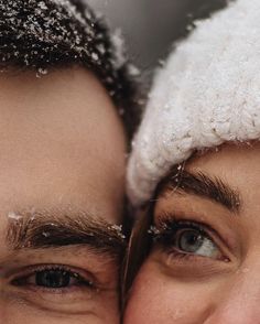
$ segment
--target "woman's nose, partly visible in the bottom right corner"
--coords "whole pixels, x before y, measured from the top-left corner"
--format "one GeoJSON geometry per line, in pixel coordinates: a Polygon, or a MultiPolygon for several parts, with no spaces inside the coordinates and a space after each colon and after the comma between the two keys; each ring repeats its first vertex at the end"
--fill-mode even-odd
{"type": "Polygon", "coordinates": [[[205,324],[260,324],[260,268],[243,268],[219,293],[205,324]]]}

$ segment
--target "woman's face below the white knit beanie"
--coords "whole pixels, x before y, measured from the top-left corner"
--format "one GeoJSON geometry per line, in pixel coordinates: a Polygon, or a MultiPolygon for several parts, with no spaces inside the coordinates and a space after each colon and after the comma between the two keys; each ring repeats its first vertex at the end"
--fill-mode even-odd
{"type": "Polygon", "coordinates": [[[165,182],[126,324],[259,323],[259,143],[230,144],[165,182]]]}

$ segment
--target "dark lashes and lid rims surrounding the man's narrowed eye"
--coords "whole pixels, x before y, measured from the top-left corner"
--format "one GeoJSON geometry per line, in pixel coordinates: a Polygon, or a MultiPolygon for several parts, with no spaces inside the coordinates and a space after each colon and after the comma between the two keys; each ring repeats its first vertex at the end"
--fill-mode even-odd
{"type": "MultiPolygon", "coordinates": [[[[75,289],[88,289],[88,290],[95,290],[97,289],[95,281],[90,279],[86,279],[86,274],[82,274],[82,271],[78,269],[73,269],[68,266],[63,264],[40,264],[35,267],[30,267],[30,269],[26,269],[22,274],[18,276],[17,278],[11,280],[11,284],[15,287],[31,287],[33,290],[41,290],[45,292],[71,292],[75,289]],[[36,276],[44,273],[44,272],[62,272],[63,274],[69,276],[71,280],[76,280],[76,284],[68,284],[68,287],[62,287],[62,288],[47,288],[44,285],[36,284],[36,276]],[[30,283],[30,279],[35,277],[35,284],[30,283]]],[[[90,277],[90,276],[89,276],[90,277]]]]}

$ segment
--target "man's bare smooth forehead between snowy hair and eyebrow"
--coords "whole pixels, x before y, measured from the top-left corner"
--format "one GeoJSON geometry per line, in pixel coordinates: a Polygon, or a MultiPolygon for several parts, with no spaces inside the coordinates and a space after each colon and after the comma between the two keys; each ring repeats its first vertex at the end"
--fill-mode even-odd
{"type": "Polygon", "coordinates": [[[0,213],[76,205],[117,222],[124,134],[99,82],[72,68],[0,86],[0,213]]]}

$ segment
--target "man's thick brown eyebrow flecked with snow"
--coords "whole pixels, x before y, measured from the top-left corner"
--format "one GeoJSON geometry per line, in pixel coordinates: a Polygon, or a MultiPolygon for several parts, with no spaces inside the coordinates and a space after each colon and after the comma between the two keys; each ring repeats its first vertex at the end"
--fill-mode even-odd
{"type": "Polygon", "coordinates": [[[6,239],[13,250],[86,245],[112,258],[121,258],[124,252],[120,227],[85,212],[12,212],[9,219],[6,239]]]}

